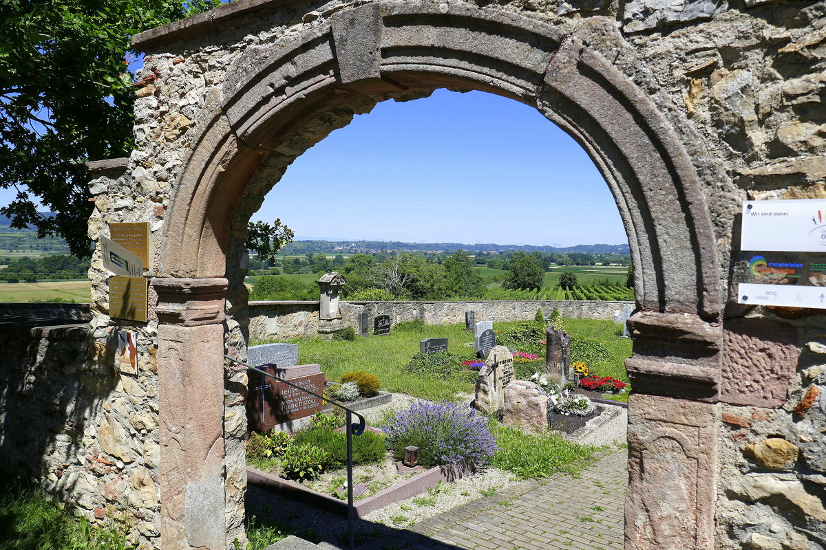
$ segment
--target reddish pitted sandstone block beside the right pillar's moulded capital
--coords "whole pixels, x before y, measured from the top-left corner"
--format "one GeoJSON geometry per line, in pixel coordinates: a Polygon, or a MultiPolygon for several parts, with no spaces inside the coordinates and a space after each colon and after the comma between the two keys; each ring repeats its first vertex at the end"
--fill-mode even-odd
{"type": "Polygon", "coordinates": [[[779,407],[797,369],[797,329],[759,319],[724,324],[719,399],[737,405],[779,407]]]}

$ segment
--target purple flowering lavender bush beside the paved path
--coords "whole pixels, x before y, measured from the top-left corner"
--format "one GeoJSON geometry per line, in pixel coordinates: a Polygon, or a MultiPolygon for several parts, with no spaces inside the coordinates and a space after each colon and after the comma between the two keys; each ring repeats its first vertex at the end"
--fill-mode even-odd
{"type": "Polygon", "coordinates": [[[415,402],[397,412],[382,430],[396,460],[404,458],[405,447],[415,445],[419,448],[419,463],[425,468],[480,468],[496,452],[487,418],[448,401],[415,402]]]}

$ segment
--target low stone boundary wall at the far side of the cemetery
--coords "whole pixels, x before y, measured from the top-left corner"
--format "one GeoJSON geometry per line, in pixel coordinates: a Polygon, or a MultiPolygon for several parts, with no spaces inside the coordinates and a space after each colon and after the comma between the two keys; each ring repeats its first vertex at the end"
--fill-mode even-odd
{"type": "MultiPolygon", "coordinates": [[[[633,302],[585,300],[486,300],[467,302],[342,302],[344,322],[358,328],[358,314],[389,315],[392,324],[419,319],[426,325],[464,322],[466,311],[476,312],[477,321],[528,321],[542,308],[545,317],[559,310],[563,317],[612,319],[615,311],[633,302]]],[[[250,302],[251,341],[288,340],[318,334],[318,302],[250,302]]],[[[371,327],[373,330],[373,327],[371,327]]]]}

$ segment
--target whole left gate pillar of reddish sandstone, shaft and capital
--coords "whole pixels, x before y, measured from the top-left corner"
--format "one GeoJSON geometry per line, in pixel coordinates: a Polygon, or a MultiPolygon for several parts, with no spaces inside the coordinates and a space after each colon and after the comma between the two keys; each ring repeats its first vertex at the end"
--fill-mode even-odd
{"type": "Polygon", "coordinates": [[[225,550],[225,279],[154,279],[161,548],[225,550]]]}

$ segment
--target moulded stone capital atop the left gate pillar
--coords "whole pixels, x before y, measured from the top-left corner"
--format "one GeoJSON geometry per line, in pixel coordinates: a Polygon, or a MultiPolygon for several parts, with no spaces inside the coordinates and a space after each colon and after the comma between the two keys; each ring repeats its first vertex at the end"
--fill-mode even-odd
{"type": "Polygon", "coordinates": [[[153,279],[152,288],[158,294],[158,321],[184,327],[224,322],[228,284],[224,278],[153,279]]]}

